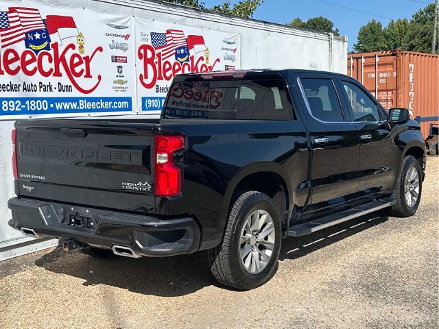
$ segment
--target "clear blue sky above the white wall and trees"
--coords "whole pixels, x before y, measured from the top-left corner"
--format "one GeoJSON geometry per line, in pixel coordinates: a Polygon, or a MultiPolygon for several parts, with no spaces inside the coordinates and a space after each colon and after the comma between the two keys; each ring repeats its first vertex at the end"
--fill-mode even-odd
{"type": "MultiPolygon", "coordinates": [[[[204,0],[207,7],[213,7],[224,0],[204,0]]],[[[237,3],[232,0],[230,3],[237,3]]],[[[348,36],[348,49],[351,51],[357,42],[357,33],[361,26],[372,19],[381,21],[383,26],[390,19],[410,19],[429,0],[265,0],[254,12],[254,19],[285,24],[299,17],[303,21],[316,16],[325,16],[339,29],[340,35],[348,36]],[[368,12],[369,14],[348,10],[340,6],[368,12]]]]}

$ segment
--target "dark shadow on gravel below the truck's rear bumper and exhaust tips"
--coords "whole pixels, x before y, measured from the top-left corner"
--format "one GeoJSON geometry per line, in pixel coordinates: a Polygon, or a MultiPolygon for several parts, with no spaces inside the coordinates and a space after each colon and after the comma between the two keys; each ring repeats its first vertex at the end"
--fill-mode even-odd
{"type": "Polygon", "coordinates": [[[65,253],[58,247],[35,265],[85,280],[84,286],[106,284],[145,295],[174,297],[217,285],[205,259],[202,252],[169,258],[93,258],[80,251],[65,253]]]}

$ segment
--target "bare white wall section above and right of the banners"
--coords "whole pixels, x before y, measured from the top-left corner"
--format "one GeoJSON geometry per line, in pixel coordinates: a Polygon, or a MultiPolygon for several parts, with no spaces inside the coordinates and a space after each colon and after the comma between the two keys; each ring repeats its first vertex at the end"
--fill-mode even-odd
{"type": "MultiPolygon", "coordinates": [[[[75,0],[71,3],[83,2],[75,0]]],[[[285,25],[164,5],[161,1],[108,0],[108,3],[127,6],[123,7],[124,14],[129,12],[148,19],[239,33],[242,69],[313,69],[346,73],[348,49],[344,36],[331,37],[285,25]]],[[[101,1],[93,1],[90,5],[97,10],[114,8],[114,5],[110,7],[101,1]]]]}

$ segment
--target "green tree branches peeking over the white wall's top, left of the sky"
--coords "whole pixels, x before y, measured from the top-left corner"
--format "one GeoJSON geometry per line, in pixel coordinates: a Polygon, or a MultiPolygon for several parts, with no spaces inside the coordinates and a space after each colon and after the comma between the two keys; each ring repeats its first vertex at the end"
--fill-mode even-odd
{"type": "Polygon", "coordinates": [[[215,5],[213,8],[206,8],[203,1],[199,0],[167,0],[171,3],[178,3],[179,5],[189,5],[193,8],[213,10],[214,12],[222,12],[234,16],[244,17],[248,19],[253,16],[254,11],[263,3],[264,0],[241,0],[235,5],[230,5],[230,0],[226,0],[220,5],[215,5]]]}

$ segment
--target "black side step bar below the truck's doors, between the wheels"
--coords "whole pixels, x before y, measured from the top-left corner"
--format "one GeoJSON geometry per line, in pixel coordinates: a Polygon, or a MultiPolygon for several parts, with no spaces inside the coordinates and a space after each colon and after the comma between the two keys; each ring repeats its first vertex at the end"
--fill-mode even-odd
{"type": "Polygon", "coordinates": [[[306,223],[296,224],[289,227],[288,236],[304,236],[311,234],[318,230],[329,228],[329,226],[334,226],[339,223],[343,223],[344,221],[349,221],[351,219],[370,214],[370,212],[375,212],[377,210],[390,207],[394,205],[394,203],[394,199],[382,199],[381,201],[370,202],[369,204],[364,204],[337,214],[329,215],[327,217],[314,219],[312,221],[307,221],[306,223]]]}

